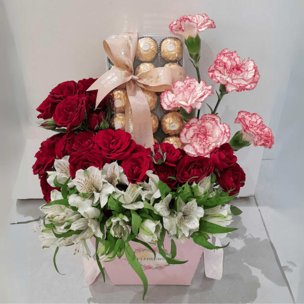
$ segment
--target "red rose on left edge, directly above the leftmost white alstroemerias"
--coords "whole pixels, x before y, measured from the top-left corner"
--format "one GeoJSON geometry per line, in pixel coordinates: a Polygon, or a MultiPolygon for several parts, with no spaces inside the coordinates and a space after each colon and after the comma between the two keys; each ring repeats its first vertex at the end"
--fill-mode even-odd
{"type": "Polygon", "coordinates": [[[56,134],[41,143],[39,151],[35,154],[37,160],[32,166],[34,174],[45,174],[46,171],[52,170],[56,158],[55,144],[62,136],[62,133],[56,134]]]}

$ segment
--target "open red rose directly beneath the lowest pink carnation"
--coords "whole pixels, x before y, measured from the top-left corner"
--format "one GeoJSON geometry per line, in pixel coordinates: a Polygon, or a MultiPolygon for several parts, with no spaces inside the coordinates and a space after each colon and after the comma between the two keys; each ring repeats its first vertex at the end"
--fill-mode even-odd
{"type": "Polygon", "coordinates": [[[205,176],[209,176],[213,170],[214,167],[209,158],[185,156],[176,167],[176,178],[180,182],[199,182],[205,176]]]}

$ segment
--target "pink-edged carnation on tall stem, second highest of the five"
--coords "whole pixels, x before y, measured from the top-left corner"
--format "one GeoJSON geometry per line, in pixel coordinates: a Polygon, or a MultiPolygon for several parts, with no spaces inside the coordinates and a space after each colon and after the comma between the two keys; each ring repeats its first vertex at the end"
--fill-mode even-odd
{"type": "Polygon", "coordinates": [[[248,58],[241,61],[236,51],[230,52],[228,49],[216,55],[208,75],[214,82],[224,85],[229,93],[254,89],[260,76],[253,60],[248,58]]]}

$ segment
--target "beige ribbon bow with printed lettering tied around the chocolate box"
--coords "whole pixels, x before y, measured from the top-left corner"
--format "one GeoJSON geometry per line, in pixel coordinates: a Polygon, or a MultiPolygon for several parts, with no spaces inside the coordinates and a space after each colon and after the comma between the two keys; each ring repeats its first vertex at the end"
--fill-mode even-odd
{"type": "Polygon", "coordinates": [[[136,143],[144,147],[154,144],[148,102],[141,89],[162,92],[172,89],[172,83],[184,79],[182,67],[157,67],[134,75],[133,61],[137,45],[137,32],[123,33],[103,41],[103,48],[115,65],[99,77],[87,91],[98,90],[96,106],[113,89],[127,83],[128,100],[125,112],[125,130],[136,143]]]}

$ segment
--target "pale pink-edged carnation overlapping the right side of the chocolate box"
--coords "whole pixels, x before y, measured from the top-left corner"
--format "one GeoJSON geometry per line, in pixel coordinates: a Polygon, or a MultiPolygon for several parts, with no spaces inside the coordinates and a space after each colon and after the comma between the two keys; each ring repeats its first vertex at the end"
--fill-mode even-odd
{"type": "Polygon", "coordinates": [[[184,81],[176,81],[172,88],[173,92],[165,90],[161,94],[161,105],[167,111],[182,106],[187,113],[190,113],[193,108],[200,109],[202,102],[214,94],[211,90],[212,86],[207,86],[203,80],[199,83],[189,75],[184,81]]]}

